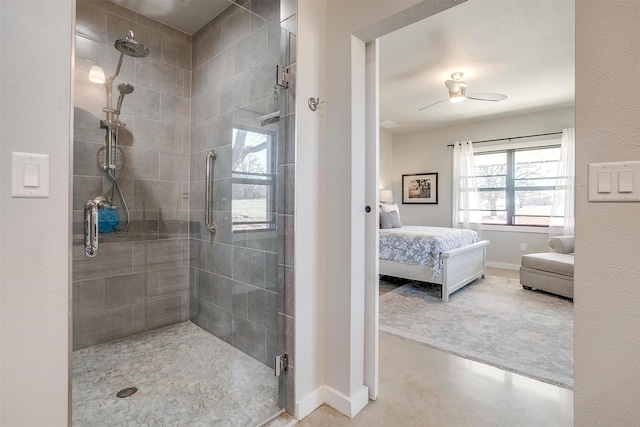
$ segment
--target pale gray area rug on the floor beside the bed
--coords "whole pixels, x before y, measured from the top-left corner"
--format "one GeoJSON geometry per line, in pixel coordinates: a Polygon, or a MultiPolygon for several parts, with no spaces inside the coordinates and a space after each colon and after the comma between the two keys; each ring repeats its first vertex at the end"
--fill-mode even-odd
{"type": "MultiPolygon", "coordinates": [[[[389,286],[381,280],[381,286],[389,286]]],[[[573,303],[487,276],[440,300],[440,286],[406,283],[380,297],[380,330],[458,356],[573,388],[573,303]]]]}

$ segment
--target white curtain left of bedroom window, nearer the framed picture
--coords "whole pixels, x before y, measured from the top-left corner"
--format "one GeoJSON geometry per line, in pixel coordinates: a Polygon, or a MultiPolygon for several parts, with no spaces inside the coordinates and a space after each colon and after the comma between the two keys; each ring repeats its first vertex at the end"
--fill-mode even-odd
{"type": "Polygon", "coordinates": [[[454,228],[479,229],[478,185],[473,162],[471,141],[456,142],[453,146],[453,218],[454,228]]]}

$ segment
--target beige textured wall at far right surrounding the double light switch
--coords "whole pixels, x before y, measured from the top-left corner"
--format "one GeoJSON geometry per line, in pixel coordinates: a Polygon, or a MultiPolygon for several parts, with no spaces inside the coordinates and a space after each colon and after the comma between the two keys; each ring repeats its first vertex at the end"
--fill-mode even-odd
{"type": "Polygon", "coordinates": [[[640,203],[589,203],[587,165],[640,160],[640,2],[576,2],[577,426],[640,422],[640,203]],[[624,79],[623,79],[624,80],[624,79]]]}

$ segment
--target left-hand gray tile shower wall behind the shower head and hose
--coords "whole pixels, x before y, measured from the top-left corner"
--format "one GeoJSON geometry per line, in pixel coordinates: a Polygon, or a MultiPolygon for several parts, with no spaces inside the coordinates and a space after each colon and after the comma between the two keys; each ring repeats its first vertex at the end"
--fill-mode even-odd
{"type": "MultiPolygon", "coordinates": [[[[79,349],[189,318],[188,191],[190,35],[103,0],[78,0],[73,159],[73,337],[79,349]],[[118,178],[131,212],[126,232],[102,234],[98,256],[83,249],[86,201],[111,195],[104,177],[103,85],[115,73],[116,39],[133,30],[147,58],[124,57],[114,83],[135,86],[122,106],[118,178]]],[[[120,206],[121,225],[125,215],[120,206]]]]}

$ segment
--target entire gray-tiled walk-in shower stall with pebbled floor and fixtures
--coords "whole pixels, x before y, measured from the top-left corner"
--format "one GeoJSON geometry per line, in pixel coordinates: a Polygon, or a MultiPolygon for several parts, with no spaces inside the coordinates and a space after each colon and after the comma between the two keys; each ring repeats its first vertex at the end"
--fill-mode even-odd
{"type": "Polygon", "coordinates": [[[293,412],[291,4],[187,34],[77,0],[74,425],[293,412]]]}

